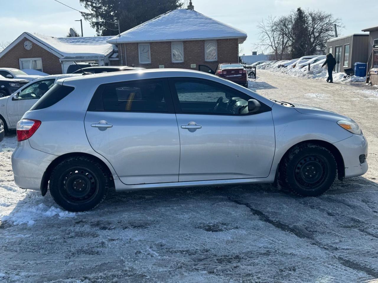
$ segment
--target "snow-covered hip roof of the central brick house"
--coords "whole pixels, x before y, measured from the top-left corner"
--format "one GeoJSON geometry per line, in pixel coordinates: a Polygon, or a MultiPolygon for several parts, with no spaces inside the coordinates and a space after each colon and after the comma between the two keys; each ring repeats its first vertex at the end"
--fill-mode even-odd
{"type": "Polygon", "coordinates": [[[239,38],[239,43],[243,43],[247,34],[192,9],[176,9],[122,32],[120,36],[108,40],[108,43],[222,38],[239,38]]]}

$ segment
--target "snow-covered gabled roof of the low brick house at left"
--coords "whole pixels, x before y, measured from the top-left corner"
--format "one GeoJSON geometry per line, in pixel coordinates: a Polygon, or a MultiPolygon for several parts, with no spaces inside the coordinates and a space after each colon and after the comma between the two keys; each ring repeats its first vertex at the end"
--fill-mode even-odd
{"type": "Polygon", "coordinates": [[[24,37],[50,51],[60,59],[103,57],[115,50],[115,46],[107,43],[112,36],[93,37],[53,37],[23,32],[14,42],[0,52],[0,57],[19,43],[24,37]]]}

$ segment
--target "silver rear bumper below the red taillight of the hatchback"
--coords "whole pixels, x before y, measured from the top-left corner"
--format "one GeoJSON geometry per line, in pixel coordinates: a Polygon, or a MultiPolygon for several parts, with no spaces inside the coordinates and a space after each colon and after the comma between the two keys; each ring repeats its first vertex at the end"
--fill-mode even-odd
{"type": "Polygon", "coordinates": [[[15,184],[23,189],[40,190],[42,176],[56,157],[32,148],[28,140],[20,141],[12,154],[15,184]]]}

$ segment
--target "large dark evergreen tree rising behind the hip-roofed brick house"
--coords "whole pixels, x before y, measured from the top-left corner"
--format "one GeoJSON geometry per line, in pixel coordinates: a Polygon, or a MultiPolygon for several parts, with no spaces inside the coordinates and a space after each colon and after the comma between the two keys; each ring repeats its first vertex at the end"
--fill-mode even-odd
{"type": "Polygon", "coordinates": [[[117,35],[167,11],[181,7],[180,0],[79,0],[91,12],[82,12],[101,35],[117,35]]]}

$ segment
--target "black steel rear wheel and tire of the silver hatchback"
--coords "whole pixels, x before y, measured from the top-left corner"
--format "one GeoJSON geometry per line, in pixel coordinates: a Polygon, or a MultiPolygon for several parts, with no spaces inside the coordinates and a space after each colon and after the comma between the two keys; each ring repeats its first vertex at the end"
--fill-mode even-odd
{"type": "Polygon", "coordinates": [[[68,211],[87,211],[108,193],[109,177],[103,166],[88,157],[70,157],[51,172],[50,193],[68,211]]]}

